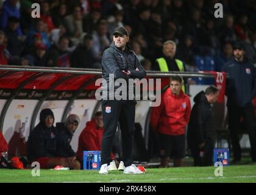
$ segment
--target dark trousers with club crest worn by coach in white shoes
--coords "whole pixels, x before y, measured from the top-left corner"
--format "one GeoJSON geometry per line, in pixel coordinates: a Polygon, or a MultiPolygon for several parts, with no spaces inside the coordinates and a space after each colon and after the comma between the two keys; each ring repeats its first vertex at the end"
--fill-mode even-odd
{"type": "Polygon", "coordinates": [[[101,165],[109,165],[113,139],[118,122],[122,134],[122,150],[124,166],[132,164],[132,139],[134,133],[136,101],[106,100],[101,102],[104,133],[101,142],[101,165]]]}

